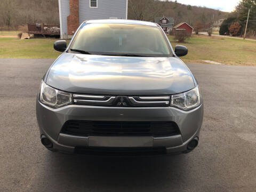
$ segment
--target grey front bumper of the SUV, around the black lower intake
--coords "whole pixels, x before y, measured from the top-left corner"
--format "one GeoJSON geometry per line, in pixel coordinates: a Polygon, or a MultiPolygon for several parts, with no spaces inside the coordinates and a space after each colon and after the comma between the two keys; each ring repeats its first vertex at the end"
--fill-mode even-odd
{"type": "MultiPolygon", "coordinates": [[[[45,135],[53,143],[52,150],[63,153],[74,153],[76,147],[91,147],[89,137],[78,137],[63,134],[61,129],[68,120],[85,121],[173,121],[180,130],[180,134],[171,137],[148,137],[153,142],[141,142],[140,137],[113,137],[113,142],[105,139],[106,146],[102,142],[97,144],[97,138],[93,147],[165,147],[167,153],[185,153],[187,144],[195,137],[199,138],[199,131],[203,122],[203,104],[193,110],[183,111],[174,107],[99,107],[69,105],[58,109],[52,109],[37,100],[37,121],[41,135],[45,135]],[[107,141],[106,141],[107,140],[107,141]],[[137,142],[139,141],[139,142],[137,142]],[[129,146],[126,146],[129,143],[129,146]]],[[[147,139],[147,137],[143,137],[147,139]]]]}

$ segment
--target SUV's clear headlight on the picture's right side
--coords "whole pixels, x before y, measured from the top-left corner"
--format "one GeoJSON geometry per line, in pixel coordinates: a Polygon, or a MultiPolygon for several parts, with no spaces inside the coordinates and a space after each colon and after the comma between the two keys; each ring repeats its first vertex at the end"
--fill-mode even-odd
{"type": "Polygon", "coordinates": [[[171,106],[182,110],[190,110],[201,104],[201,98],[198,86],[185,93],[172,95],[171,106]]]}

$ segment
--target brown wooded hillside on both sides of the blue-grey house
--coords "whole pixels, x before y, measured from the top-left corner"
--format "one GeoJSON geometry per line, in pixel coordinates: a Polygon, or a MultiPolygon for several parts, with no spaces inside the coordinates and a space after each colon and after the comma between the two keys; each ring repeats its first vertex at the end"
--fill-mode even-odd
{"type": "MultiPolygon", "coordinates": [[[[226,18],[228,13],[206,7],[154,0],[129,0],[128,18],[154,21],[154,17],[173,17],[174,24],[196,21],[203,24],[226,18]]],[[[59,23],[58,0],[1,0],[0,27],[11,29],[27,23],[59,23]]]]}

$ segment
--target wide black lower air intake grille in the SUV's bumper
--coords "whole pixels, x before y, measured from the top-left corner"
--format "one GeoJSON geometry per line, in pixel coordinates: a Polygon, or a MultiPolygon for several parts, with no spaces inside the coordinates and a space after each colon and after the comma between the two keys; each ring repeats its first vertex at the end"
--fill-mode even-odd
{"type": "Polygon", "coordinates": [[[67,121],[62,133],[79,136],[168,137],[180,134],[174,122],[67,121]]]}

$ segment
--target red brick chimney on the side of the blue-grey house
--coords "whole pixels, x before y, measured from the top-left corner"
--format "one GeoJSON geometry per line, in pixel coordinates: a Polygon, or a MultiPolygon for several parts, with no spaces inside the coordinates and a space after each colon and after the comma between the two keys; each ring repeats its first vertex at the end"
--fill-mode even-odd
{"type": "Polygon", "coordinates": [[[69,0],[68,35],[74,35],[79,27],[79,0],[69,0]]]}

